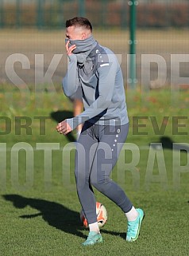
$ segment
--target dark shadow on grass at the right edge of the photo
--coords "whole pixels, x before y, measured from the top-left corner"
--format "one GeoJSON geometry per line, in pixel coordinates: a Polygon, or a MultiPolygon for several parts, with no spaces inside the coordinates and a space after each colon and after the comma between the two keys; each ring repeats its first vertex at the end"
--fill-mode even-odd
{"type": "MultiPolygon", "coordinates": [[[[189,152],[189,147],[187,145],[184,144],[179,144],[179,143],[175,143],[170,137],[168,136],[162,136],[160,137],[160,141],[158,143],[162,144],[162,148],[163,149],[170,149],[170,150],[179,150],[180,152],[189,152]],[[173,148],[173,144],[174,144],[174,148],[173,148]]],[[[156,144],[151,144],[152,148],[156,149],[156,144]]]]}

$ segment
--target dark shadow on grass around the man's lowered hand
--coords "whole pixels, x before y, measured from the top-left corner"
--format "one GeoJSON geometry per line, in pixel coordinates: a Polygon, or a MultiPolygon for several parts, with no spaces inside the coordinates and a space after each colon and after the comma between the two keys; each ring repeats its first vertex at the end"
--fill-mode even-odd
{"type": "MultiPolygon", "coordinates": [[[[52,120],[55,120],[57,124],[60,123],[61,121],[65,120],[65,119],[67,119],[67,118],[73,117],[73,115],[74,114],[71,111],[60,111],[60,110],[50,113],[50,116],[51,116],[52,120]]],[[[70,142],[75,141],[75,137],[73,136],[72,132],[69,132],[66,135],[66,137],[70,142]]]]}

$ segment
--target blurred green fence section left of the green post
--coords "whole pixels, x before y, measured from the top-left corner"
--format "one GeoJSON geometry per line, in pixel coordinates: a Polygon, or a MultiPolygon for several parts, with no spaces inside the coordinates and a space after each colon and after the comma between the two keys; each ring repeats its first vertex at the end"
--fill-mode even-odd
{"type": "Polygon", "coordinates": [[[0,27],[61,28],[68,18],[87,16],[95,26],[127,26],[127,2],[107,0],[0,0],[0,27]]]}

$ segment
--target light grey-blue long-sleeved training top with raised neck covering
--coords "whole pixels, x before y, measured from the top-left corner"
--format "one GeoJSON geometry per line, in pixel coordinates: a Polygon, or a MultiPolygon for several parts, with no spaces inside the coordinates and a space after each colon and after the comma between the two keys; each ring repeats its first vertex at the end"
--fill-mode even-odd
{"type": "Polygon", "coordinates": [[[77,48],[68,56],[63,89],[70,97],[81,86],[84,111],[67,119],[68,124],[72,129],[85,121],[101,125],[127,124],[122,70],[115,54],[99,45],[92,36],[83,41],[69,41],[77,48]]]}

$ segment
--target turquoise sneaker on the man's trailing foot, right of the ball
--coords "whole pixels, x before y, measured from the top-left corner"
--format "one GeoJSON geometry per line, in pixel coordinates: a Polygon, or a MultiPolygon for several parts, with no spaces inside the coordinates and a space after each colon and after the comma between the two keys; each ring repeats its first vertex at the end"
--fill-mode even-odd
{"type": "Polygon", "coordinates": [[[125,240],[128,242],[134,242],[137,240],[140,230],[141,230],[141,222],[145,217],[144,211],[141,209],[136,209],[138,212],[138,217],[134,221],[129,221],[128,222],[128,229],[126,233],[126,238],[125,240]]]}

